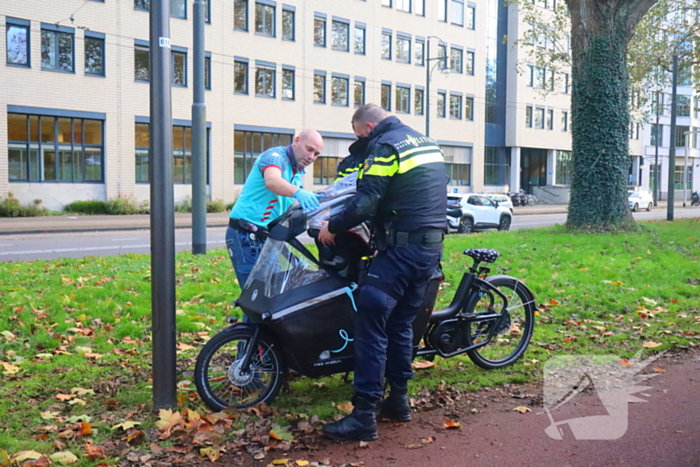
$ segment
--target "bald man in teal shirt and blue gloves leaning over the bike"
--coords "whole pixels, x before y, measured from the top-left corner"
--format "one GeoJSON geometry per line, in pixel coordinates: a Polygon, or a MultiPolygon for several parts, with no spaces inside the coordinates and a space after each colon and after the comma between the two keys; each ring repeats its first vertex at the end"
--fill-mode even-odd
{"type": "Polygon", "coordinates": [[[319,206],[317,195],[301,185],[304,169],[322,150],[321,135],[315,130],[304,130],[289,146],[270,148],[255,160],[226,230],[226,247],[241,288],[260,256],[270,221],[295,200],[304,210],[319,206]]]}

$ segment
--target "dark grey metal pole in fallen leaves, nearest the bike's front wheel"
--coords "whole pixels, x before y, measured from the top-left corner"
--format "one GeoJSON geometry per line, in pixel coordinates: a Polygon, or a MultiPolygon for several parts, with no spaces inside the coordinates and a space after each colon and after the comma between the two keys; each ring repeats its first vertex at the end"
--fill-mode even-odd
{"type": "Polygon", "coordinates": [[[158,410],[177,406],[170,0],[151,2],[150,27],[152,370],[158,410]]]}

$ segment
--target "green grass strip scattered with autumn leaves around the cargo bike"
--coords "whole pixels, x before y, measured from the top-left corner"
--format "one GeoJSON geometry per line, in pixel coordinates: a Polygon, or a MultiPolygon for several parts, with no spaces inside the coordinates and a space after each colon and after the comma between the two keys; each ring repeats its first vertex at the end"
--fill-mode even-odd
{"type": "MultiPolygon", "coordinates": [[[[554,355],[629,357],[645,342],[661,344],[647,352],[697,345],[698,232],[697,220],[677,220],[645,223],[637,233],[575,235],[555,226],[448,237],[438,306],[449,302],[467,267],[461,251],[496,248],[502,256],[492,274],[523,279],[536,295],[535,334],[524,358],[502,370],[481,370],[466,357],[438,358],[438,365],[417,371],[412,394],[420,399],[443,384],[476,390],[541,378],[542,365],[554,355]]],[[[0,264],[0,362],[18,369],[2,374],[0,366],[0,449],[54,452],[57,433],[41,436],[38,427],[62,423],[43,419],[45,411],[64,421],[92,417],[95,445],[118,438],[111,427],[129,413],[142,429],[153,426],[150,277],[146,255],[0,264]],[[84,405],[56,398],[73,388],[95,394],[79,396],[84,405]]],[[[178,254],[178,339],[194,346],[178,352],[180,380],[192,380],[198,349],[227,316],[239,314],[230,305],[239,293],[234,278],[224,250],[178,254]]],[[[275,406],[322,419],[337,414],[333,403],[352,392],[341,375],[297,378],[290,387],[275,406]]],[[[182,401],[205,412],[192,392],[182,392],[182,401]]],[[[62,441],[76,454],[84,450],[81,439],[62,441]]]]}

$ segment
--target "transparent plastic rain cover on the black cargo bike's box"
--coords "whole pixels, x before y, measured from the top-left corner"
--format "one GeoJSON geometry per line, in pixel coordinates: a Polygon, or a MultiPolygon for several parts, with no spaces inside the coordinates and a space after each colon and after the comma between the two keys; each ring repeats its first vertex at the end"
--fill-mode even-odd
{"type": "MultiPolygon", "coordinates": [[[[319,200],[321,205],[307,213],[307,228],[320,228],[321,222],[342,209],[345,202],[355,193],[357,173],[352,173],[326,188],[319,200]]],[[[289,220],[281,223],[289,227],[289,220]]],[[[302,234],[303,235],[303,234],[302,234]]],[[[262,248],[260,257],[245,283],[250,286],[253,281],[265,284],[264,294],[275,297],[304,285],[318,282],[328,277],[328,273],[306,258],[301,252],[281,240],[268,238],[262,248]]]]}

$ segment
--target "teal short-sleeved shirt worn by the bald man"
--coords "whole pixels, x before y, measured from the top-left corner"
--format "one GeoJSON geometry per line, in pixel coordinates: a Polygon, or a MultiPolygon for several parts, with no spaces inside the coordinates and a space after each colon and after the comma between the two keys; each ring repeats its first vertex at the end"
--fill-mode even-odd
{"type": "Polygon", "coordinates": [[[304,171],[296,167],[291,146],[277,146],[260,154],[248,174],[241,195],[231,209],[232,219],[244,219],[267,228],[271,220],[282,215],[296,201],[288,196],[277,195],[265,187],[263,173],[268,167],[277,167],[282,178],[294,186],[301,187],[304,171]]]}

